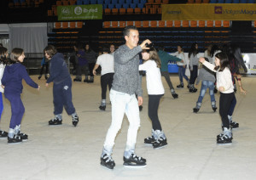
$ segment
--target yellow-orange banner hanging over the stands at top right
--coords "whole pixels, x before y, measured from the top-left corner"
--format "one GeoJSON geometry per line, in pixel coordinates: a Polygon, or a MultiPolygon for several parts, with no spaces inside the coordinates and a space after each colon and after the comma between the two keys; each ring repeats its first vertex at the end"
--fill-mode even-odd
{"type": "Polygon", "coordinates": [[[162,20],[256,20],[256,4],[162,4],[162,20]]]}

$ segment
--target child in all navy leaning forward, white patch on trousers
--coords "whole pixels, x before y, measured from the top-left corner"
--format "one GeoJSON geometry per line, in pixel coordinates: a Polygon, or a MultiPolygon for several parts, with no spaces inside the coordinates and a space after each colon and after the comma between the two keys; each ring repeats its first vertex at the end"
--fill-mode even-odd
{"type": "Polygon", "coordinates": [[[64,61],[62,53],[58,53],[54,46],[44,48],[44,55],[49,59],[49,78],[45,84],[49,86],[49,82],[53,82],[53,98],[54,98],[54,115],[55,118],[49,121],[49,125],[62,124],[63,107],[67,111],[67,115],[72,115],[73,126],[76,127],[79,123],[79,116],[73,107],[72,102],[72,80],[67,69],[67,64],[64,61]]]}

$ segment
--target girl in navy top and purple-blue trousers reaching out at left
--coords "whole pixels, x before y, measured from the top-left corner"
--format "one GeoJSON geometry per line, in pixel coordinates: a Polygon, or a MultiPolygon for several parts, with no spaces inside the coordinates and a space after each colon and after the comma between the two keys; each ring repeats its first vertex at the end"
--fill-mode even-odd
{"type": "Polygon", "coordinates": [[[26,72],[26,67],[21,65],[25,58],[23,49],[14,48],[10,54],[9,65],[6,65],[3,72],[2,86],[4,96],[11,105],[11,120],[9,123],[8,143],[20,143],[26,141],[28,136],[20,130],[20,123],[25,112],[24,105],[20,98],[22,93],[22,79],[34,88],[39,90],[37,83],[33,82],[26,72]]]}

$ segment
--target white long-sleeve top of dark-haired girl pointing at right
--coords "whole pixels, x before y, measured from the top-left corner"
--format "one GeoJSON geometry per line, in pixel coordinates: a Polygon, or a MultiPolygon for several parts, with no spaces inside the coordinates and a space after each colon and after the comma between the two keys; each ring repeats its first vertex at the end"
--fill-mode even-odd
{"type": "Polygon", "coordinates": [[[232,82],[232,75],[229,68],[225,68],[223,71],[214,70],[215,65],[212,65],[211,63],[205,61],[203,63],[209,70],[212,70],[216,72],[216,86],[218,87],[224,87],[224,92],[221,93],[233,93],[234,92],[234,86],[232,82]]]}

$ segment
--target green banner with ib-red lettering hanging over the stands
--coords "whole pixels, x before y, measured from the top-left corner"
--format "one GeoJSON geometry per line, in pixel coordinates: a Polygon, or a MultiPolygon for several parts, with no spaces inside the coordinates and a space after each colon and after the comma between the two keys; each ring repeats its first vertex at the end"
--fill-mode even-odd
{"type": "Polygon", "coordinates": [[[58,6],[58,20],[102,20],[102,4],[58,6]]]}

